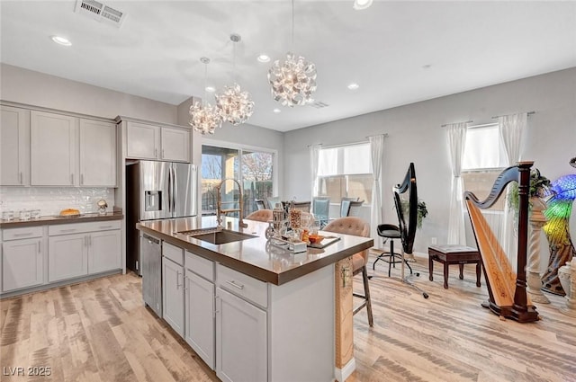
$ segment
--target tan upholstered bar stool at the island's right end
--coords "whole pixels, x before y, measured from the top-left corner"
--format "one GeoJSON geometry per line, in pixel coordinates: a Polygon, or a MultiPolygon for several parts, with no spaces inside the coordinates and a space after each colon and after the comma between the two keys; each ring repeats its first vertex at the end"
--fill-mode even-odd
{"type": "MultiPolygon", "coordinates": [[[[328,226],[324,227],[324,231],[334,232],[337,234],[355,235],[355,236],[370,236],[370,225],[361,218],[347,217],[338,218],[331,221],[328,226]]],[[[360,306],[354,309],[354,314],[358,313],[364,307],[368,311],[368,324],[374,326],[374,319],[372,316],[372,302],[370,300],[370,287],[368,285],[368,272],[366,271],[366,264],[368,263],[368,250],[355,253],[352,256],[352,275],[362,272],[362,280],[364,281],[364,295],[354,293],[356,298],[364,299],[360,306]]]]}

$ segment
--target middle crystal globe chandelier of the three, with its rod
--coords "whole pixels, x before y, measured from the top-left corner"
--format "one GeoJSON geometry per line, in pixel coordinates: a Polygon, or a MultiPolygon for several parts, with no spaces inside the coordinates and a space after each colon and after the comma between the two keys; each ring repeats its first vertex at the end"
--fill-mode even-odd
{"type": "Polygon", "coordinates": [[[236,43],[241,40],[238,34],[230,35],[230,40],[234,43],[233,67],[234,84],[224,86],[222,93],[216,95],[216,106],[222,120],[238,126],[252,116],[254,112],[254,102],[250,93],[242,92],[240,85],[236,83],[236,43]]]}

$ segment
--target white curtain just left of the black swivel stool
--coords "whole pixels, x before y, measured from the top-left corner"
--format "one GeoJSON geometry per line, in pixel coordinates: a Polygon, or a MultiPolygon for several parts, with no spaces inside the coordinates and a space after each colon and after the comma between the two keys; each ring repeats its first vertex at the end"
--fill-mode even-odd
{"type": "MultiPolygon", "coordinates": [[[[374,177],[374,187],[372,188],[372,210],[370,211],[370,227],[374,243],[378,237],[377,227],[383,223],[382,216],[382,163],[384,156],[384,135],[368,137],[370,140],[370,153],[372,162],[372,174],[374,177]]],[[[378,247],[378,244],[375,245],[378,247]]]]}

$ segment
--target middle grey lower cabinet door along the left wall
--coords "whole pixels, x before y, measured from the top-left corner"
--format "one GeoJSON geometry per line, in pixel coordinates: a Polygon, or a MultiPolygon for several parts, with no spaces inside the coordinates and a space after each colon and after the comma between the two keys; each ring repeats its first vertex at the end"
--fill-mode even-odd
{"type": "Polygon", "coordinates": [[[48,280],[50,282],[88,274],[87,235],[51,236],[48,242],[48,280]]]}

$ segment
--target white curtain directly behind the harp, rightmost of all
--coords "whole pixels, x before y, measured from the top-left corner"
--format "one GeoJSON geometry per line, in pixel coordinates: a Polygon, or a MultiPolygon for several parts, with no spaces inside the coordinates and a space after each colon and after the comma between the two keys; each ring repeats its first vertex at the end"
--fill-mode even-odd
{"type": "MultiPolygon", "coordinates": [[[[506,150],[508,165],[516,165],[520,160],[522,137],[527,127],[528,114],[526,112],[519,114],[504,115],[498,118],[498,130],[500,140],[506,150]]],[[[510,185],[506,191],[506,200],[504,207],[504,223],[500,231],[500,245],[508,255],[512,265],[517,262],[518,252],[518,232],[515,227],[515,212],[509,209],[508,196],[510,185]]]]}

